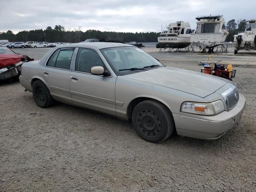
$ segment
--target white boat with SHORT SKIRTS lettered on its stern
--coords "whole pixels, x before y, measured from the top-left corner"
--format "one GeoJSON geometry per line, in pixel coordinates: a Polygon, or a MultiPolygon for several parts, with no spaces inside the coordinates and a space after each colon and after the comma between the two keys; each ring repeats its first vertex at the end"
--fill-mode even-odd
{"type": "Polygon", "coordinates": [[[160,33],[156,48],[185,48],[190,45],[190,33],[192,30],[189,23],[183,21],[170,23],[160,33]]]}

